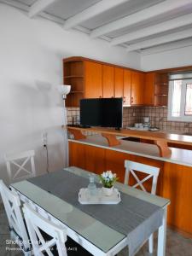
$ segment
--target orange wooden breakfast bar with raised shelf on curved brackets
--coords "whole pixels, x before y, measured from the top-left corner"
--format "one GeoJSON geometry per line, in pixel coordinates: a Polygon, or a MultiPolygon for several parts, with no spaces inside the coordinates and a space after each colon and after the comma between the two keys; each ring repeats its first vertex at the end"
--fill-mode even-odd
{"type": "MultiPolygon", "coordinates": [[[[111,170],[117,173],[120,182],[124,181],[125,160],[159,167],[157,195],[171,200],[167,223],[192,237],[192,151],[167,146],[167,143],[172,143],[191,147],[191,136],[73,126],[68,126],[68,131],[73,134],[73,138],[68,139],[70,166],[97,174],[111,170]],[[154,144],[126,141],[124,137],[141,138],[154,144]]],[[[133,178],[130,182],[135,183],[133,178]]],[[[150,181],[146,183],[147,190],[149,186],[150,181]]]]}

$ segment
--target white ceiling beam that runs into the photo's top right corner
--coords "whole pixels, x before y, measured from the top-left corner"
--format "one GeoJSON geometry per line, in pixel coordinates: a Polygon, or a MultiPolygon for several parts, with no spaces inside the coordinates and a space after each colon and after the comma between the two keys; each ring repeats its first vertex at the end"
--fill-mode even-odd
{"type": "Polygon", "coordinates": [[[135,25],[144,20],[153,19],[159,15],[165,15],[177,9],[191,8],[192,0],[166,0],[162,3],[157,3],[151,7],[138,11],[132,15],[127,15],[124,18],[115,20],[106,25],[100,26],[90,33],[90,38],[98,38],[110,32],[135,25]]]}

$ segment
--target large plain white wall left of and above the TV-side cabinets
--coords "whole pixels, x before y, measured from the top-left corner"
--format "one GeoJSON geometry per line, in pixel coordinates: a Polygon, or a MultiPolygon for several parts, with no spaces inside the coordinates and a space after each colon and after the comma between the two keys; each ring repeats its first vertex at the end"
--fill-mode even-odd
{"type": "Polygon", "coordinates": [[[137,54],[65,32],[52,21],[30,20],[0,3],[0,178],[8,182],[3,154],[34,148],[38,174],[45,172],[41,134],[48,132],[49,170],[64,166],[61,130],[62,58],[82,55],[127,67],[140,67],[137,54]]]}

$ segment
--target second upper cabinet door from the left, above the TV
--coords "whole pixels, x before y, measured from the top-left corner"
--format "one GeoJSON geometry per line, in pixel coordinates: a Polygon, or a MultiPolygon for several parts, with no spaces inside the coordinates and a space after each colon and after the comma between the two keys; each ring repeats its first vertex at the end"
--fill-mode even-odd
{"type": "Polygon", "coordinates": [[[102,97],[114,96],[114,67],[102,65],[102,97]]]}

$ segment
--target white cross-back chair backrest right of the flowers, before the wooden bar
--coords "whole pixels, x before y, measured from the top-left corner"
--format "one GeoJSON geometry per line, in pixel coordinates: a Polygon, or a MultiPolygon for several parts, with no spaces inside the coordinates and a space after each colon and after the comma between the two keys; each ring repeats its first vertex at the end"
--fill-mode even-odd
{"type": "Polygon", "coordinates": [[[152,178],[152,187],[151,187],[151,194],[156,193],[156,187],[157,187],[157,179],[159,176],[160,168],[154,167],[154,166],[148,166],[143,165],[137,162],[132,162],[129,160],[125,160],[125,180],[124,183],[129,183],[130,173],[132,176],[136,179],[137,183],[134,184],[133,188],[137,188],[138,186],[143,189],[143,191],[146,191],[146,189],[143,186],[143,183],[146,182],[149,178],[152,178]],[[142,180],[139,179],[136,172],[143,172],[145,174],[148,174],[146,177],[144,177],[142,180]]]}

